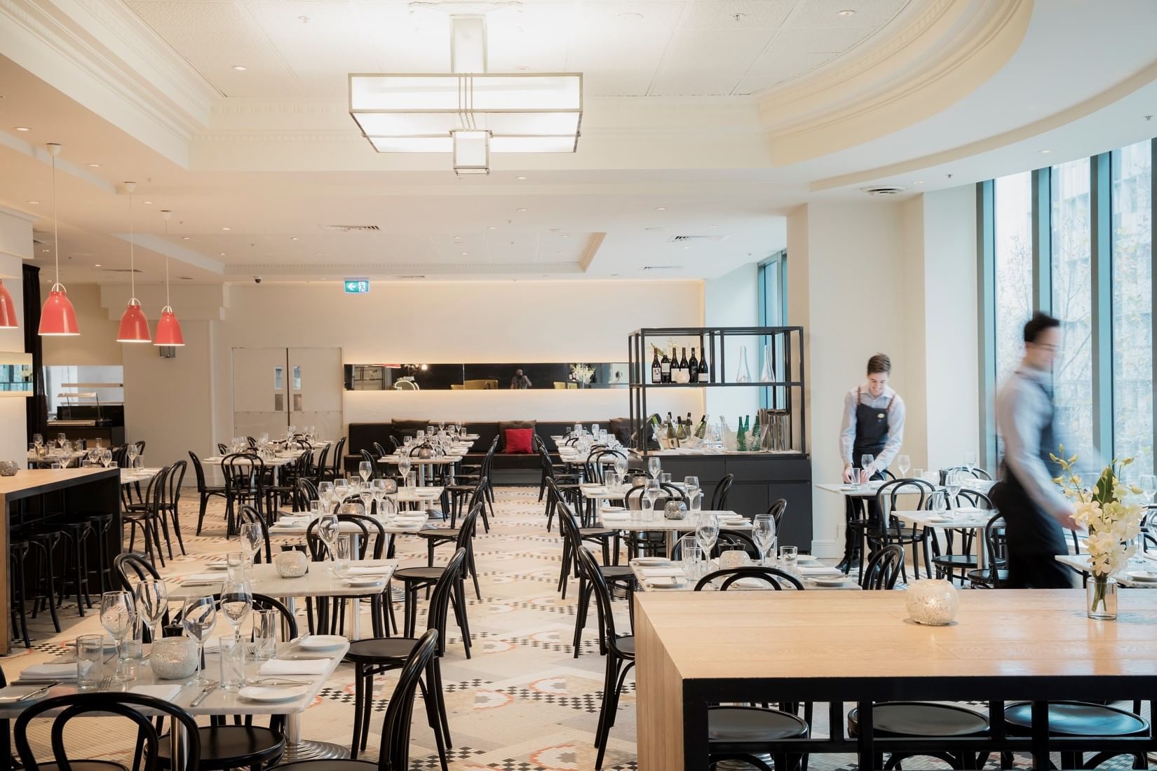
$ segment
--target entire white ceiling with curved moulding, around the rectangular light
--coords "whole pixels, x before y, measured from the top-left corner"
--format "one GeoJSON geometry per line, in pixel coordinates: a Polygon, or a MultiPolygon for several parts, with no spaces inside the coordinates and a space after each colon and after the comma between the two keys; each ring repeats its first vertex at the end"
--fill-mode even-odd
{"type": "MultiPolygon", "coordinates": [[[[858,83],[886,103],[909,81],[896,71],[864,79],[918,37],[918,22],[939,30],[913,59],[919,72],[1025,0],[526,0],[521,16],[488,15],[492,69],[584,72],[578,151],[494,156],[489,177],[460,180],[447,156],[374,153],[345,103],[348,72],[447,71],[444,14],[411,15],[397,0],[88,0],[118,22],[105,34],[97,17],[69,16],[74,5],[29,2],[68,23],[42,57],[0,38],[0,206],[36,215],[37,237],[51,242],[43,146],[64,144],[69,282],[124,281],[109,270],[128,266],[127,179],[138,183],[146,282],[161,279],[165,254],[175,276],[196,282],[713,277],[783,247],[783,215],[799,203],[865,200],[860,188],[876,183],[967,184],[1157,133],[1143,118],[1157,113],[1151,0],[1120,0],[1115,16],[1089,0],[1038,1],[1007,60],[946,108],[879,136],[857,138],[849,123],[842,149],[786,165],[760,99],[858,83]],[[633,13],[642,18],[622,16],[633,13]],[[89,49],[76,30],[94,36],[89,49]],[[61,51],[89,64],[61,69],[61,51]],[[709,94],[721,96],[697,96],[709,94]],[[168,237],[162,208],[175,212],[168,237]],[[379,230],[325,229],[336,224],[379,230]]],[[[37,262],[50,261],[46,247],[37,262]]]]}

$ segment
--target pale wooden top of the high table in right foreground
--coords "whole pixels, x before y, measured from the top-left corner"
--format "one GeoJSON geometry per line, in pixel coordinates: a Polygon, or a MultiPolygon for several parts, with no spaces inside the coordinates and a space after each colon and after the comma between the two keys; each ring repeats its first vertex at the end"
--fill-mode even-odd
{"type": "Polygon", "coordinates": [[[905,594],[646,592],[636,622],[684,680],[1157,674],[1157,592],[1092,621],[1084,590],[964,591],[949,627],[909,621],[905,594]]]}

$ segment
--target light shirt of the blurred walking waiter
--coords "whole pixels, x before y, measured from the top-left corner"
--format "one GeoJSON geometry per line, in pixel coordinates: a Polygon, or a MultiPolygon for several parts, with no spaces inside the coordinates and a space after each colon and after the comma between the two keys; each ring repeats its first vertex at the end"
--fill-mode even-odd
{"type": "MultiPolygon", "coordinates": [[[[1073,513],[1073,504],[1053,482],[1040,447],[1040,432],[1053,416],[1053,405],[1045,392],[1049,381],[1048,372],[1022,364],[996,394],[996,431],[1004,444],[1007,469],[1016,474],[1032,502],[1053,517],[1064,517],[1073,513]]],[[[1060,437],[1056,439],[1060,442],[1060,437]]],[[[1060,450],[1045,447],[1045,451],[1060,450]]]]}

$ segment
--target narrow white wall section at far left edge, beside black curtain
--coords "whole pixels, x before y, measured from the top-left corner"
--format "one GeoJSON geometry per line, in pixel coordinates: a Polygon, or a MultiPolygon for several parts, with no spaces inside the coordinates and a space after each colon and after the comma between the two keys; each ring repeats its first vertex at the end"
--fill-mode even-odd
{"type": "MultiPolygon", "coordinates": [[[[21,326],[0,329],[0,351],[24,351],[23,258],[32,255],[32,222],[16,212],[0,210],[0,279],[12,295],[21,326]]],[[[27,402],[22,396],[0,398],[0,460],[21,468],[28,451],[27,402]]]]}

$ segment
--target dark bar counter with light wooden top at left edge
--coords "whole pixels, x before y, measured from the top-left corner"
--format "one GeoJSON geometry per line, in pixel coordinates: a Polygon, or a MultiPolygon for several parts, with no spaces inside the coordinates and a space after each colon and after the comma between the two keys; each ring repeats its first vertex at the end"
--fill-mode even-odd
{"type": "MultiPolygon", "coordinates": [[[[34,468],[21,469],[15,476],[0,476],[0,554],[8,561],[8,543],[14,527],[35,524],[45,512],[62,513],[66,518],[90,513],[117,516],[113,532],[120,533],[120,469],[119,468],[34,468]]],[[[94,554],[103,565],[120,551],[120,540],[115,539],[109,554],[94,554]]],[[[0,571],[0,602],[3,603],[3,624],[0,624],[0,654],[7,654],[12,646],[8,620],[10,598],[7,570],[0,571]]],[[[91,587],[90,587],[91,588],[91,587]]],[[[100,593],[100,587],[96,587],[100,593]]],[[[100,598],[96,598],[100,601],[100,598]]]]}

